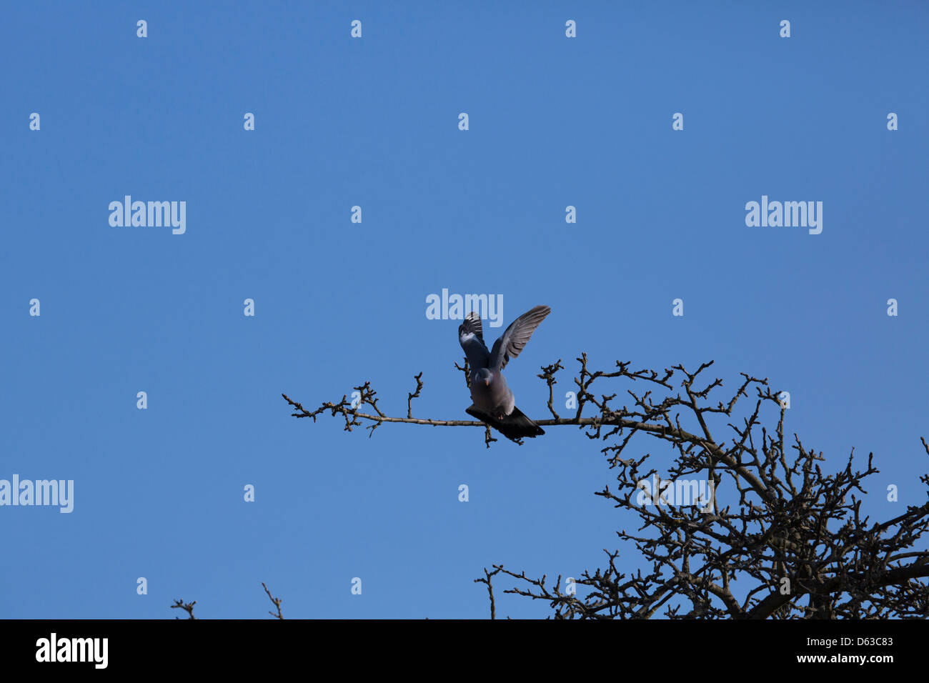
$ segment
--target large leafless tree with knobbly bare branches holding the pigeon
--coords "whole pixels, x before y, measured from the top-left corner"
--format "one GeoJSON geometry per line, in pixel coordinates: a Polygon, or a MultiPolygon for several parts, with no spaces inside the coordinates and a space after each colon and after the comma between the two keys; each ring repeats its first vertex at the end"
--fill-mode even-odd
{"type": "MultiPolygon", "coordinates": [[[[560,575],[548,582],[546,575],[535,579],[494,564],[475,580],[487,584],[491,618],[497,607],[492,581],[500,575],[514,584],[504,593],[543,600],[555,618],[929,615],[929,551],[917,549],[929,523],[929,503],[907,506],[906,512],[882,522],[863,516],[859,495],[867,493],[864,479],[879,471],[873,453],[863,470],[855,468],[853,450],[844,467],[823,471],[822,453],[806,448],[795,434],[792,440],[785,436],[788,408],[781,392],[772,391],[766,379],[742,374],[735,392],[719,401],[722,380],[701,378],[712,361],[692,373],[682,365],[662,372],[630,371],[630,363],[620,361],[609,372],[591,371],[586,354],[577,361],[580,370],[572,387],[576,408],[566,416],[555,406],[561,361],[542,368],[539,377],[548,387],[552,417],[537,422],[577,427],[587,439],[603,444],[599,450],[616,472],[617,484],[595,494],[638,519],[635,532],[617,535],[625,547],[635,548],[647,569],[620,571],[619,551],[604,550],[604,566],[583,571],[563,588],[560,575]],[[598,392],[609,382],[611,393],[595,395],[595,382],[598,392]],[[628,397],[622,404],[617,400],[621,385],[628,397]],[[636,436],[640,438],[631,445],[636,436]],[[666,474],[650,497],[643,482],[659,476],[650,463],[655,456],[627,455],[639,448],[642,438],[659,440],[667,450],[666,474]],[[682,482],[687,486],[700,476],[706,491],[713,492],[708,499],[700,505],[664,504],[669,493],[683,490],[682,482]],[[582,595],[575,585],[584,587],[582,595]]],[[[467,363],[456,367],[466,382],[467,363]]],[[[354,404],[343,396],[307,410],[287,395],[283,398],[294,408],[294,417],[315,422],[321,414],[341,415],[347,431],[363,426],[369,435],[385,423],[484,427],[485,443],[491,447],[496,438],[483,423],[413,417],[412,401],[424,386],[422,373],[414,379],[405,417],[385,414],[369,382],[354,387],[360,395],[354,404]]],[[[929,454],[925,440],[922,448],[929,454]]],[[[920,480],[929,488],[929,476],[920,480]]]]}

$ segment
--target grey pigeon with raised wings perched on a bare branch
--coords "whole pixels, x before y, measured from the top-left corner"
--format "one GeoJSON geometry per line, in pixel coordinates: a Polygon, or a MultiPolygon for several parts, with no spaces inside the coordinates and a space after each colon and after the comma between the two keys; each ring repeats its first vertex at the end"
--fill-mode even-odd
{"type": "Polygon", "coordinates": [[[551,310],[547,306],[536,306],[523,313],[493,343],[491,351],[488,351],[484,344],[480,317],[473,310],[458,327],[458,341],[471,365],[468,382],[471,386],[471,400],[474,403],[466,413],[494,427],[510,440],[537,437],[545,433],[542,427],[532,422],[517,408],[513,392],[506,386],[502,371],[506,363],[511,358],[516,358],[526,347],[535,328],[551,310]]]}

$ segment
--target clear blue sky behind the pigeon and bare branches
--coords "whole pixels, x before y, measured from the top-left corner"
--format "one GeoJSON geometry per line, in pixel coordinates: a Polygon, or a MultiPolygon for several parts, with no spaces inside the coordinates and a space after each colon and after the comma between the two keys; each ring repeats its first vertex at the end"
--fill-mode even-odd
{"type": "Polygon", "coordinates": [[[506,371],[530,416],[558,358],[715,360],[789,389],[829,466],[873,451],[875,516],[924,502],[924,4],[241,5],[4,10],[0,478],[75,499],[0,507],[0,616],[260,618],[265,581],[291,617],[485,617],[482,567],[599,566],[635,519],[572,427],[488,451],[290,416],[364,380],[406,414],[423,371],[415,414],[466,419],[443,288],[551,306],[506,371]],[[111,227],[126,194],[186,233],[111,227]],[[823,202],[822,233],[747,227],[762,195],[823,202]]]}

